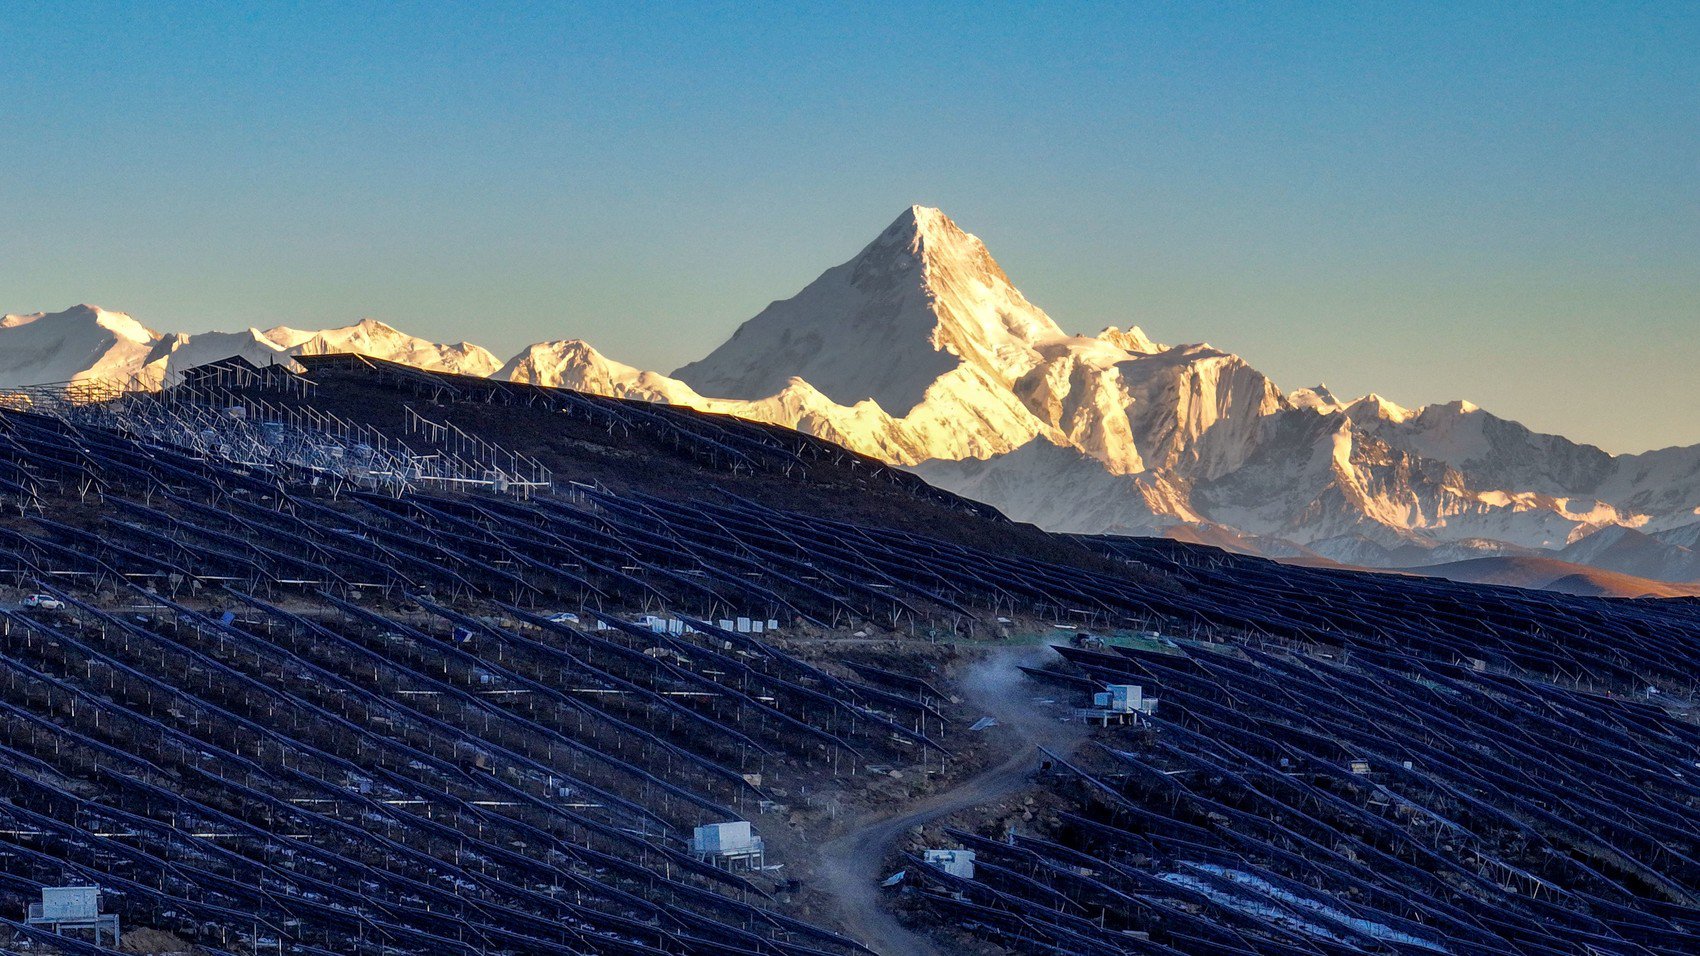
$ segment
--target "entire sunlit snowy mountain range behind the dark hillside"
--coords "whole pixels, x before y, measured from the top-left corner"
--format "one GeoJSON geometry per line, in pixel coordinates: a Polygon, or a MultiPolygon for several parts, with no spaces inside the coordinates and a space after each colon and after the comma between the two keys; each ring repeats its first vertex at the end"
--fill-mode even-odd
{"type": "Polygon", "coordinates": [[[979,238],[923,206],[670,376],[583,340],[502,362],[374,320],[182,335],[95,306],[0,318],[0,386],[158,384],[226,356],[318,352],[775,422],[1052,531],[1442,575],[1462,563],[1448,577],[1482,580],[1550,577],[1557,561],[1700,582],[1700,446],[1612,456],[1469,401],[1343,401],[1326,386],[1284,391],[1207,344],[1068,333],[979,238]]]}

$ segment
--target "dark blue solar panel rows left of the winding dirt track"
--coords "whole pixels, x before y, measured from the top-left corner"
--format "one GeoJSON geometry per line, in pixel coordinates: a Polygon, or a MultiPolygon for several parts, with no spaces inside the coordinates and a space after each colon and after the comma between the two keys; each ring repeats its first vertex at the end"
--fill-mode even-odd
{"type": "Polygon", "coordinates": [[[0,435],[0,568],[66,604],[0,611],[14,902],[95,883],[212,951],[857,949],[688,834],[937,750],[928,708],[707,621],[554,621],[602,585],[541,531],[36,415],[0,435]]]}

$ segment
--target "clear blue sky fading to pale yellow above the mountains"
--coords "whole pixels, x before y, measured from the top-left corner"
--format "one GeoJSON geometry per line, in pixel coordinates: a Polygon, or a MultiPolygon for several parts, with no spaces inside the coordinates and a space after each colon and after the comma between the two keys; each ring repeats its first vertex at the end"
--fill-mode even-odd
{"type": "Polygon", "coordinates": [[[911,202],[1066,328],[1700,442],[1700,5],[0,5],[0,311],[672,369],[911,202]]]}

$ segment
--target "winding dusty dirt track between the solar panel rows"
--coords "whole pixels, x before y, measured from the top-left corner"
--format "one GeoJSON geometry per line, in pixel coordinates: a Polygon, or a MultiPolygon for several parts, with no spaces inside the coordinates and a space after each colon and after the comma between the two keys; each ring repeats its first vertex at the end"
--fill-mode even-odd
{"type": "Polygon", "coordinates": [[[1066,725],[1059,711],[1037,703],[1044,689],[1028,680],[1020,663],[1044,660],[1046,648],[994,650],[969,669],[962,680],[966,708],[998,718],[983,733],[1003,737],[1008,757],[952,789],[935,793],[892,817],[870,815],[845,835],[821,845],[818,878],[838,902],[843,930],[882,956],[938,956],[938,947],[910,932],[881,905],[881,866],[899,835],[960,810],[994,803],[1027,789],[1039,764],[1039,747],[1068,752],[1083,737],[1078,725],[1066,725]]]}

